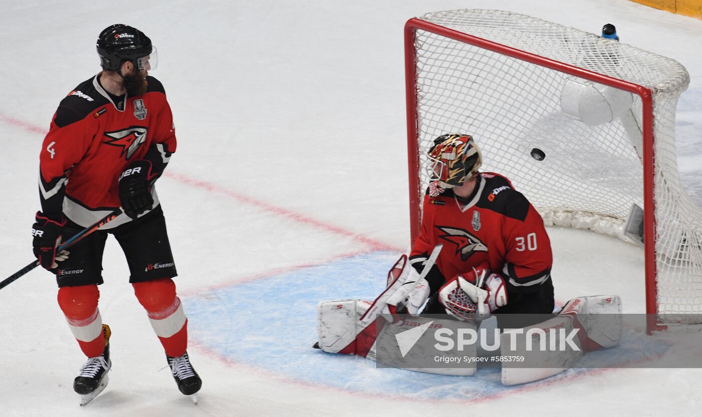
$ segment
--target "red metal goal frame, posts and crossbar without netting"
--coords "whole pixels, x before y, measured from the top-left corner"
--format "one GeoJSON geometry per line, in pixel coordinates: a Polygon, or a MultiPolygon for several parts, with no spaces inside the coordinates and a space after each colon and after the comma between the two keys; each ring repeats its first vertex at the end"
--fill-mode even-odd
{"type": "MultiPolygon", "coordinates": [[[[655,205],[654,205],[654,119],[653,100],[649,88],[633,84],[628,81],[609,77],[587,69],[575,67],[564,62],[558,62],[550,58],[521,51],[510,46],[488,41],[470,34],[458,32],[448,27],[436,25],[418,18],[407,20],[404,25],[404,53],[405,53],[405,88],[406,88],[406,112],[407,112],[407,154],[409,168],[409,218],[411,244],[420,233],[421,225],[421,195],[424,190],[420,189],[420,159],[418,150],[418,112],[417,112],[417,74],[416,74],[416,48],[415,33],[417,30],[424,30],[454,41],[464,42],[489,51],[501,53],[503,55],[531,62],[549,69],[554,69],[574,77],[587,79],[596,83],[604,84],[628,91],[638,95],[642,102],[642,136],[643,136],[643,183],[644,183],[644,271],[646,288],[646,313],[648,317],[648,328],[650,330],[665,329],[656,323],[654,319],[658,314],[657,281],[656,281],[656,252],[655,252],[655,205]]],[[[468,132],[470,133],[470,132],[468,132]]]]}

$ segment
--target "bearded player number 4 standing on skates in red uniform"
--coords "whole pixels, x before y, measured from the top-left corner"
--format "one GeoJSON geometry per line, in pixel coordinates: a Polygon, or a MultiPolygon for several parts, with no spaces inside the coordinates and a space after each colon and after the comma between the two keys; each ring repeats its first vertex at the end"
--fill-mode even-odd
{"type": "Polygon", "coordinates": [[[176,296],[176,267],[154,182],[176,151],[171,108],[161,83],[147,72],[156,48],[140,30],[112,25],[98,37],[102,72],[60,102],[40,161],[41,211],[33,225],[34,255],[56,275],[58,304],[88,361],[74,381],[87,402],[107,384],[110,332],[98,310],[107,234],[119,242],[129,282],[166,351],[180,392],[201,379],[190,364],[187,318],[176,296]],[[66,240],[121,206],[124,214],[56,253],[66,240]],[[103,334],[104,333],[104,334],[103,334]]]}

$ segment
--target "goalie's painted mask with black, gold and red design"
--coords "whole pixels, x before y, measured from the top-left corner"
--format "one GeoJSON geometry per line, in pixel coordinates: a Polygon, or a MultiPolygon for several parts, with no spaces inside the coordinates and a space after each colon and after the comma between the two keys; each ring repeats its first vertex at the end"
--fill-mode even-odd
{"type": "Polygon", "coordinates": [[[429,152],[429,195],[463,185],[482,164],[480,149],[471,135],[447,133],[434,140],[429,152]]]}

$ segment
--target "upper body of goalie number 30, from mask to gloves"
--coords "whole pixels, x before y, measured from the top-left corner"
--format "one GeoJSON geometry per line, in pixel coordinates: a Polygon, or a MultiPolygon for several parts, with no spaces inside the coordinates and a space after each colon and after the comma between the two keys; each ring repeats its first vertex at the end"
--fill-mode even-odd
{"type": "Polygon", "coordinates": [[[419,307],[428,298],[423,312],[459,319],[498,314],[498,325],[510,328],[534,323],[506,313],[552,313],[551,244],[534,207],[507,178],[479,173],[482,155],[470,135],[439,136],[428,154],[432,178],[411,275],[422,272],[435,245],[444,250],[426,274],[429,290],[404,286],[404,303],[419,307]]]}

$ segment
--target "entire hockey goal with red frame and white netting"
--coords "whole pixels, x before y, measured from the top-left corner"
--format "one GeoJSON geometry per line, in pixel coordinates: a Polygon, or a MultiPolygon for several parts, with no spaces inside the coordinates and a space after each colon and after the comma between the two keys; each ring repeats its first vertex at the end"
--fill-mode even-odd
{"type": "Polygon", "coordinates": [[[481,171],[510,178],[547,225],[630,240],[625,220],[640,206],[647,313],[666,322],[702,313],[702,214],[675,154],[675,107],[689,83],[680,63],[505,11],[428,13],[407,22],[405,39],[412,240],[428,147],[468,133],[483,150],[481,171]],[[630,103],[609,122],[586,123],[587,109],[574,114],[564,93],[573,86],[615,88],[630,103]]]}

